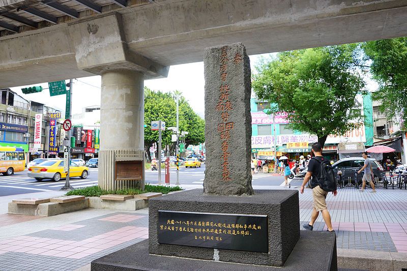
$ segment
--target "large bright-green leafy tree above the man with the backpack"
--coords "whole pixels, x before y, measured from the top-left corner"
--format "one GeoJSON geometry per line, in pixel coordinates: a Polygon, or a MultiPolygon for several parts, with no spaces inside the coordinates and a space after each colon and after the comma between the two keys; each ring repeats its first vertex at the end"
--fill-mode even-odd
{"type": "Polygon", "coordinates": [[[278,53],[256,67],[252,87],[258,99],[287,113],[290,128],[315,134],[324,145],[328,135],[363,121],[360,108],[354,108],[365,85],[356,49],[346,44],[278,53]]]}

